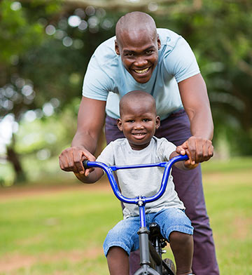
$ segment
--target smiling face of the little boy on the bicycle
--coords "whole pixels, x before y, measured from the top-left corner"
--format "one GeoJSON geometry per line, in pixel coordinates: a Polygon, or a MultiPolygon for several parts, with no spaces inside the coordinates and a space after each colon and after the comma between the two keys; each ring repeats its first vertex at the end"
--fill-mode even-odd
{"type": "Polygon", "coordinates": [[[155,114],[150,102],[128,102],[118,119],[118,128],[134,150],[144,149],[151,142],[155,130],[160,126],[160,117],[155,114]]]}

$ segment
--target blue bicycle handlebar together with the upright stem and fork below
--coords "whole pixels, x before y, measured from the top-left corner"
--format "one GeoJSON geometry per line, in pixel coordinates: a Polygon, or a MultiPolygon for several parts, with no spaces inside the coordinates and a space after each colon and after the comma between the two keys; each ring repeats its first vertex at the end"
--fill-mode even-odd
{"type": "MultiPolygon", "coordinates": [[[[139,220],[140,220],[140,229],[139,229],[139,245],[140,245],[140,259],[141,259],[141,266],[142,268],[139,269],[135,273],[137,274],[153,274],[153,275],[159,275],[157,271],[154,269],[151,269],[149,267],[150,265],[150,259],[149,259],[149,254],[148,254],[148,229],[146,228],[146,211],[145,211],[145,205],[146,203],[150,203],[152,201],[157,201],[160,199],[160,197],[165,193],[165,189],[167,187],[167,182],[169,179],[169,175],[171,172],[171,168],[174,165],[174,163],[178,161],[186,161],[188,160],[188,156],[175,156],[168,162],[160,162],[160,163],[150,163],[150,164],[139,164],[139,165],[127,165],[127,166],[106,166],[106,164],[102,162],[97,162],[97,161],[83,161],[83,166],[85,168],[102,168],[106,175],[109,178],[109,182],[111,184],[111,187],[113,189],[113,193],[116,195],[116,197],[120,200],[123,201],[124,203],[132,203],[132,204],[137,204],[139,206],[139,220]],[[132,169],[132,168],[146,168],[146,167],[162,167],[164,168],[164,173],[162,176],[162,182],[160,189],[157,194],[146,197],[146,196],[137,196],[135,198],[127,198],[121,194],[116,179],[113,175],[113,172],[116,170],[121,170],[121,169],[132,169]],[[148,273],[145,273],[148,272],[148,273]]],[[[162,274],[162,273],[161,273],[162,274]]],[[[172,273],[173,274],[173,273],[172,273]]]]}

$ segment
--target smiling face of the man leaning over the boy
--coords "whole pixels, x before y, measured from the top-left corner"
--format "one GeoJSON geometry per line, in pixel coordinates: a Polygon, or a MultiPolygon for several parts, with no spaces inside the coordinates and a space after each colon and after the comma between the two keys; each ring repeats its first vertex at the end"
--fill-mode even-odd
{"type": "Polygon", "coordinates": [[[125,69],[139,83],[146,83],[158,64],[160,39],[154,32],[124,31],[116,41],[116,53],[121,56],[125,69]]]}

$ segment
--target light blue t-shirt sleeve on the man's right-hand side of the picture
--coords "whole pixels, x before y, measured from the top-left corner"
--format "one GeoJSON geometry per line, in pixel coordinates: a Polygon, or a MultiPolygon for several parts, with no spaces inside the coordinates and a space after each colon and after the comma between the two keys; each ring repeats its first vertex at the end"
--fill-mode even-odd
{"type": "Polygon", "coordinates": [[[177,83],[200,73],[195,55],[182,36],[179,36],[173,48],[167,45],[167,50],[165,68],[169,74],[175,76],[177,83]]]}

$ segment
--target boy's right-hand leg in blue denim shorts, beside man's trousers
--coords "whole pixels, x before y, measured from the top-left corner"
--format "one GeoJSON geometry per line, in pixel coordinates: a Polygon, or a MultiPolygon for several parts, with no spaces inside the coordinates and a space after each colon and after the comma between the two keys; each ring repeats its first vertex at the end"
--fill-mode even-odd
{"type": "Polygon", "coordinates": [[[155,213],[154,222],[169,241],[176,262],[176,275],[192,274],[193,227],[179,208],[167,208],[155,213]]]}

